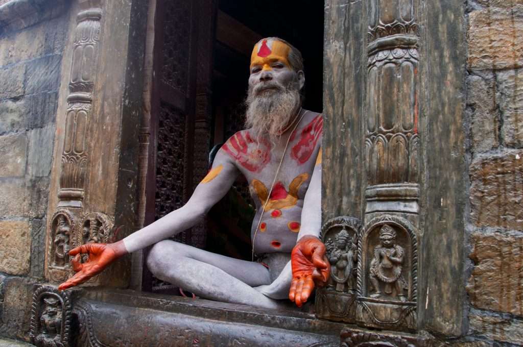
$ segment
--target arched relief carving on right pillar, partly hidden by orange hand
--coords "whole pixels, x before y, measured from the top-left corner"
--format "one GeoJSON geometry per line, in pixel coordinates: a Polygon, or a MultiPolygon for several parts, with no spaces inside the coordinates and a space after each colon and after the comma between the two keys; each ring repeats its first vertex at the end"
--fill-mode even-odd
{"type": "Polygon", "coordinates": [[[329,219],[322,227],[322,240],[331,264],[325,288],[316,293],[316,315],[354,322],[356,312],[356,260],[360,224],[352,217],[329,219]]]}

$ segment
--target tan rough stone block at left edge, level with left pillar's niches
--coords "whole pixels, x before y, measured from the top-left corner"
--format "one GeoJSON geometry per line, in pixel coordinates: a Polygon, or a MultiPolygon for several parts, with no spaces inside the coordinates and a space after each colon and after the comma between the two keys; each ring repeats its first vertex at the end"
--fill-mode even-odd
{"type": "Polygon", "coordinates": [[[0,221],[0,271],[12,275],[29,272],[31,229],[28,221],[0,221]]]}

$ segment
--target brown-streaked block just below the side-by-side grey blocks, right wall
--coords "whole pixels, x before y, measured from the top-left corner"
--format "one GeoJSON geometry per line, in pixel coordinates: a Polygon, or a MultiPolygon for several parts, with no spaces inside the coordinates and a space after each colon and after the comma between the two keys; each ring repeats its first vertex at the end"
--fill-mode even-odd
{"type": "Polygon", "coordinates": [[[523,230],[523,151],[474,160],[470,181],[474,225],[523,230]]]}

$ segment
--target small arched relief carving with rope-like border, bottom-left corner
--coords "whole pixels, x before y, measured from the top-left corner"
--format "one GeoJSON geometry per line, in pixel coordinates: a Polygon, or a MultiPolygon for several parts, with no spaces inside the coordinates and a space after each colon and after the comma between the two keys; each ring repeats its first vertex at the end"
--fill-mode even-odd
{"type": "Polygon", "coordinates": [[[33,293],[31,340],[38,347],[67,347],[70,342],[71,299],[67,292],[40,287],[33,293]]]}

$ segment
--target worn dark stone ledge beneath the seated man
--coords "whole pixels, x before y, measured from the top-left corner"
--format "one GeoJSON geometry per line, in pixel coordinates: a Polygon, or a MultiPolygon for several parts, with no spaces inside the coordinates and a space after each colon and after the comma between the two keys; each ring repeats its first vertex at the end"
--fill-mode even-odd
{"type": "Polygon", "coordinates": [[[74,296],[75,330],[108,346],[337,346],[344,327],[308,313],[130,290],[83,288],[74,296]]]}

